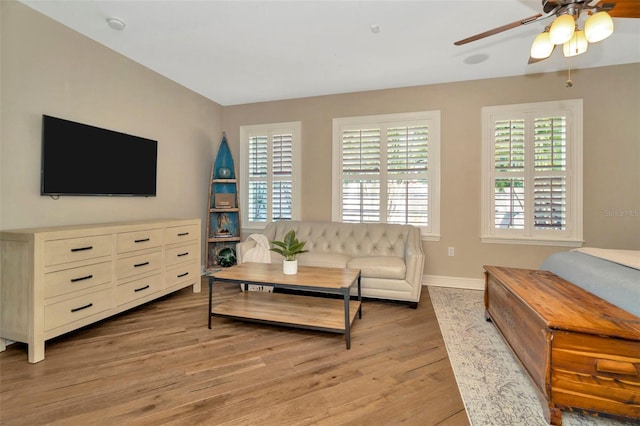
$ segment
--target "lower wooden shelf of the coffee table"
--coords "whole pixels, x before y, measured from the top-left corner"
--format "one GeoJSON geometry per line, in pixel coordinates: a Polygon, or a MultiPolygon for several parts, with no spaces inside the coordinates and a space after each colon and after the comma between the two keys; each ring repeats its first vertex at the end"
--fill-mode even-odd
{"type": "MultiPolygon", "coordinates": [[[[342,299],[246,291],[215,305],[211,315],[344,334],[344,308],[342,299]]],[[[359,301],[349,301],[349,324],[359,309],[359,301]]]]}

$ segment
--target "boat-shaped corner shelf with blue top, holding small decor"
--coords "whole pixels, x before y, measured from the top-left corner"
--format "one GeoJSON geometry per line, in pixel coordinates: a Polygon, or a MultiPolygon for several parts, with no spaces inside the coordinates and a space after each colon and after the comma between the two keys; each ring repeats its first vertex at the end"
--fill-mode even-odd
{"type": "Polygon", "coordinates": [[[235,246],[240,238],[238,181],[227,135],[223,132],[209,179],[206,268],[235,265],[235,246]]]}

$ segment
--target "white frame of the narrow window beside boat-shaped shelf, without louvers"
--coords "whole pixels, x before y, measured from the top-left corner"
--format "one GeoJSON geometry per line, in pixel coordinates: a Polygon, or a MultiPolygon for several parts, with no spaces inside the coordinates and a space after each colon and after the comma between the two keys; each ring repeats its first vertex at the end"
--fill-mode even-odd
{"type": "Polygon", "coordinates": [[[249,139],[254,136],[266,136],[268,138],[269,152],[273,148],[273,135],[290,133],[292,135],[292,174],[291,174],[291,220],[300,220],[301,211],[301,176],[300,170],[302,169],[302,123],[300,121],[282,122],[282,123],[267,123],[267,124],[252,124],[240,126],[240,170],[239,174],[239,188],[242,192],[240,194],[242,209],[242,227],[244,229],[261,230],[264,229],[267,224],[272,222],[270,216],[272,214],[273,201],[272,201],[272,183],[273,173],[272,164],[273,157],[269,156],[269,174],[267,175],[267,209],[268,217],[265,222],[252,221],[249,218],[249,139]]]}

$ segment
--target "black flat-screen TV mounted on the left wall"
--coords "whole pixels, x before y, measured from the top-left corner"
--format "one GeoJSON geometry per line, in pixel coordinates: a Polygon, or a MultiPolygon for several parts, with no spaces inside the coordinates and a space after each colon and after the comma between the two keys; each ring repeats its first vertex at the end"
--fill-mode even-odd
{"type": "Polygon", "coordinates": [[[41,195],[156,195],[158,142],[42,116],[41,195]]]}

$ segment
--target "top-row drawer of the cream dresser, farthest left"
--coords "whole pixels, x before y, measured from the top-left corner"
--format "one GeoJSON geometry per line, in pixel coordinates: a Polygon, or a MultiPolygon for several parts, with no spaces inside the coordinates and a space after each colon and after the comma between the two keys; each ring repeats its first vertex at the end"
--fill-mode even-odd
{"type": "Polygon", "coordinates": [[[111,255],[111,235],[51,240],[44,243],[44,266],[111,255]]]}

